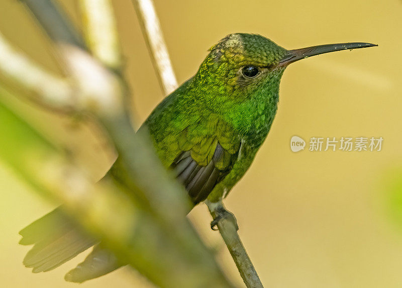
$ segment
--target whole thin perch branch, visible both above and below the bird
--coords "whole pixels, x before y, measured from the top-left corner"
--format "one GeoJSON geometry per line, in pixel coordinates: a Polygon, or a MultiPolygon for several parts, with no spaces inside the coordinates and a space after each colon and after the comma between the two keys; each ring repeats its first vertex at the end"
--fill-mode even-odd
{"type": "MultiPolygon", "coordinates": [[[[163,35],[159,27],[159,20],[152,4],[152,0],[133,0],[133,3],[143,27],[149,51],[153,56],[154,67],[156,67],[156,72],[159,75],[159,80],[162,82],[161,85],[164,87],[164,91],[168,94],[177,87],[177,80],[171,66],[169,54],[163,40],[163,35]]],[[[215,209],[224,209],[222,202],[207,202],[207,205],[209,205],[211,215],[214,219],[217,216],[215,209]]],[[[224,219],[223,221],[218,222],[218,229],[246,286],[252,288],[263,287],[234,225],[224,219]]]]}

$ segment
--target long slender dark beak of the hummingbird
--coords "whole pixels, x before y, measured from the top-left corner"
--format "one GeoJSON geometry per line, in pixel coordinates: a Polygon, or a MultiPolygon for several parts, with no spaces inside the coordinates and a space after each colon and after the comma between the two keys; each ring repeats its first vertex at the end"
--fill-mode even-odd
{"type": "Polygon", "coordinates": [[[326,45],[318,45],[318,46],[289,50],[289,53],[283,57],[283,59],[279,62],[278,66],[287,66],[290,63],[296,62],[298,60],[324,53],[348,50],[348,49],[367,48],[373,46],[378,45],[364,42],[353,42],[353,43],[326,44],[326,45]]]}

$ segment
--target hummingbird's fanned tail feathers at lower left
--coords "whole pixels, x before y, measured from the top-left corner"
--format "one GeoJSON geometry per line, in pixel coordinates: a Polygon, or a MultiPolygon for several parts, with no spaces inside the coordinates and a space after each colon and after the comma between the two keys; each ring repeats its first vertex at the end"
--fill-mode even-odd
{"type": "MultiPolygon", "coordinates": [[[[69,220],[63,214],[60,207],[21,230],[20,234],[23,236],[20,244],[34,244],[23,261],[26,267],[33,268],[32,272],[34,273],[52,270],[98,243],[98,240],[81,231],[77,225],[69,220]]],[[[95,258],[99,256],[98,250],[99,249],[94,249],[83,263],[88,263],[91,255],[95,256],[95,258]]],[[[105,256],[102,259],[106,259],[105,256]]],[[[95,270],[88,271],[86,276],[82,269],[78,269],[80,272],[79,282],[93,278],[92,275],[102,275],[99,274],[99,272],[104,272],[103,274],[110,272],[105,268],[111,266],[111,264],[113,263],[95,265],[93,266],[95,270]]],[[[109,267],[109,270],[110,269],[109,267]]],[[[70,271],[72,276],[67,277],[66,275],[66,280],[74,280],[74,270],[70,271]]]]}

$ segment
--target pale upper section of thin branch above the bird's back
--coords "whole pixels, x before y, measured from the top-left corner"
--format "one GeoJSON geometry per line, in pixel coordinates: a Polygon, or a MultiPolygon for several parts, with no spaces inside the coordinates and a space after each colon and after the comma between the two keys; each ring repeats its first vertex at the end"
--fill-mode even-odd
{"type": "Polygon", "coordinates": [[[170,94],[177,88],[169,53],[152,0],[133,0],[141,28],[151,53],[152,64],[157,71],[159,84],[164,93],[170,94]]]}

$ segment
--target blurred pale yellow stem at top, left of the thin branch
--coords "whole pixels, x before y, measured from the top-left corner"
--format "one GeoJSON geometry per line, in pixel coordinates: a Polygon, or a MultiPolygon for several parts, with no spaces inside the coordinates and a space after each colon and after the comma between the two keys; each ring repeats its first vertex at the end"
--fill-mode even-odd
{"type": "Polygon", "coordinates": [[[121,67],[116,20],[109,0],[80,0],[84,36],[89,49],[104,65],[121,67]]]}

